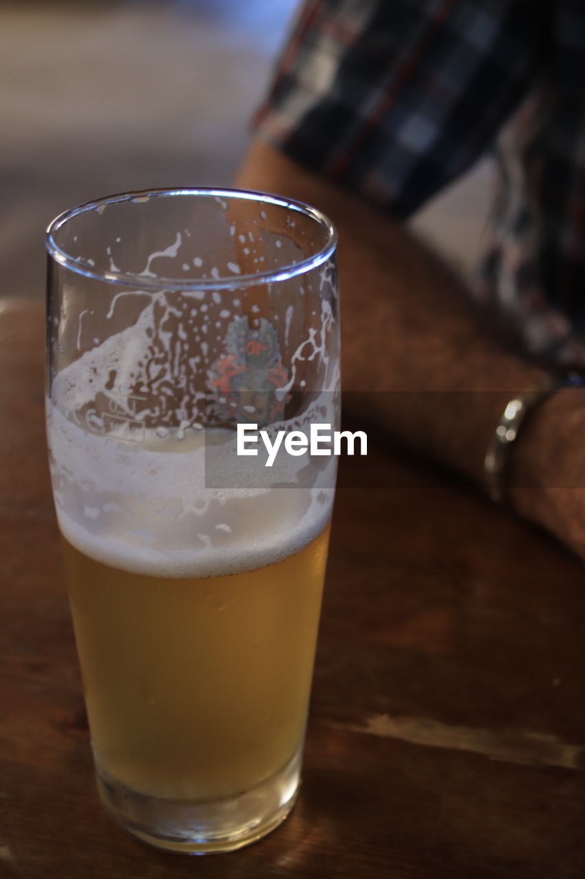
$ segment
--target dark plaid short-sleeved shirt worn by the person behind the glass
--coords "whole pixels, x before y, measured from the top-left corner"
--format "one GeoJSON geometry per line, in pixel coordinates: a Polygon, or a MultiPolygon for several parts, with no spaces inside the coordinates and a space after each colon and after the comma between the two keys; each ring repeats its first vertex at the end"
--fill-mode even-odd
{"type": "Polygon", "coordinates": [[[256,128],[398,219],[495,151],[475,292],[585,367],[583,0],[307,0],[256,128]]]}

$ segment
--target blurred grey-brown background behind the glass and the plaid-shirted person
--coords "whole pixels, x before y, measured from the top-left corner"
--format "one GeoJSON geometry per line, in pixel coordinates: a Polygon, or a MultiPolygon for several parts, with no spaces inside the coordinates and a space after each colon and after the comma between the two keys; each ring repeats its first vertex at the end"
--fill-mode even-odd
{"type": "MultiPolygon", "coordinates": [[[[129,189],[230,185],[297,0],[0,0],[3,297],[44,294],[55,214],[129,189]]],[[[490,163],[413,225],[473,271],[490,163]]]]}

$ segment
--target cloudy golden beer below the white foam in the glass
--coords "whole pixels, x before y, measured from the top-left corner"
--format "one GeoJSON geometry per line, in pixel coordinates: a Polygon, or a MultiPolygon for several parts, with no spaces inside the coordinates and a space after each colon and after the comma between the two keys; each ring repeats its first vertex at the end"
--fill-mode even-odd
{"type": "Polygon", "coordinates": [[[302,742],[329,528],[284,561],[164,578],[63,539],[98,772],[155,797],[256,787],[302,742]]]}

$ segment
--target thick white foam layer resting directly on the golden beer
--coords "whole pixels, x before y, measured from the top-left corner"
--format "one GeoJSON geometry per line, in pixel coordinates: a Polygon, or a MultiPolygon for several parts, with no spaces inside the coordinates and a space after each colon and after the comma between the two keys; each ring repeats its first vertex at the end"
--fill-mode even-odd
{"type": "MultiPolygon", "coordinates": [[[[322,487],[298,487],[302,465],[294,473],[290,464],[300,459],[286,456],[288,470],[277,473],[256,465],[254,482],[264,472],[264,487],[238,485],[235,469],[229,488],[210,489],[203,432],[183,444],[153,436],[120,451],[121,443],[84,432],[52,404],[48,425],[61,532],[98,562],[157,577],[219,577],[282,561],[329,521],[335,473],[321,474],[322,487]]],[[[229,473],[225,446],[215,447],[229,473]]]]}

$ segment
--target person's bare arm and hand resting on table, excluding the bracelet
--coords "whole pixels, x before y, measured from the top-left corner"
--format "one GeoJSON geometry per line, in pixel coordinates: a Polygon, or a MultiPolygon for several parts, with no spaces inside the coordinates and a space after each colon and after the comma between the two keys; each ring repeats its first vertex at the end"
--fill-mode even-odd
{"type": "MultiPolygon", "coordinates": [[[[485,484],[483,459],[509,399],[537,387],[538,367],[483,327],[462,284],[401,226],[256,142],[237,185],[307,201],[335,222],[343,389],[379,391],[373,414],[409,447],[485,484]],[[387,393],[390,392],[390,393],[387,393]]],[[[358,396],[358,395],[357,395],[358,396]]],[[[585,555],[581,394],[541,403],[513,449],[516,508],[585,555]],[[569,487],[573,486],[573,487],[569,487]]]]}

